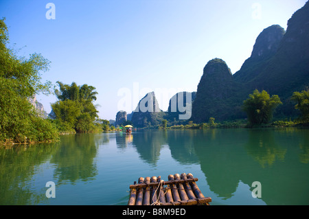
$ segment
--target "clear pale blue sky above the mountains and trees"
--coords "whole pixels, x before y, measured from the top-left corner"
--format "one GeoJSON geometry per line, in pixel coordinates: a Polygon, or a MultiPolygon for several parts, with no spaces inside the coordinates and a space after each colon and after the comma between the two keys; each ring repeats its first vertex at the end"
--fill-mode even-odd
{"type": "MultiPolygon", "coordinates": [[[[42,81],[88,84],[98,115],[115,119],[155,91],[159,107],[196,91],[213,58],[236,73],[266,27],[287,21],[307,0],[0,0],[10,47],[50,61],[42,81]],[[49,4],[52,3],[52,4],[49,4]]],[[[37,95],[47,113],[55,95],[37,95]]]]}

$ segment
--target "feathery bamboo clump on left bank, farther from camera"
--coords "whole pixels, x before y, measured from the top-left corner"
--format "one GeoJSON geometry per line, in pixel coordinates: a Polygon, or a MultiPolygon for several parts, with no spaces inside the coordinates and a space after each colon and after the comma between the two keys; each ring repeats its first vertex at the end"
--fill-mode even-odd
{"type": "MultiPolygon", "coordinates": [[[[96,124],[98,111],[93,105],[96,100],[95,87],[83,84],[81,87],[75,82],[71,85],[57,82],[59,90],[55,89],[58,102],[52,104],[60,130],[75,130],[76,132],[96,132],[106,126],[96,124]]],[[[109,128],[109,126],[108,126],[109,128]]]]}

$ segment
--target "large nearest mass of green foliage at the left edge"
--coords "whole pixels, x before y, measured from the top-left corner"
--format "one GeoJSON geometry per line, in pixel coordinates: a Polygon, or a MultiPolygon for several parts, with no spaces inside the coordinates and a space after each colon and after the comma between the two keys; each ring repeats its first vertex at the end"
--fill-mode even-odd
{"type": "Polygon", "coordinates": [[[58,130],[34,111],[28,101],[36,93],[51,93],[51,83],[41,82],[40,71],[49,61],[40,54],[19,58],[9,49],[8,28],[0,19],[0,142],[54,141],[58,130]]]}

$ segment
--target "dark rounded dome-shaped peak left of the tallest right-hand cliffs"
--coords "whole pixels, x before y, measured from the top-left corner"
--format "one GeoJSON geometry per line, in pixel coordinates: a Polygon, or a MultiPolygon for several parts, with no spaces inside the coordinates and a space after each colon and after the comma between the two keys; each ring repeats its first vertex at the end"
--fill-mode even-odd
{"type": "Polygon", "coordinates": [[[241,113],[240,108],[232,111],[240,89],[225,61],[219,58],[210,60],[198,83],[196,99],[192,104],[192,120],[201,123],[208,122],[209,117],[215,117],[216,121],[233,119],[241,113]]]}

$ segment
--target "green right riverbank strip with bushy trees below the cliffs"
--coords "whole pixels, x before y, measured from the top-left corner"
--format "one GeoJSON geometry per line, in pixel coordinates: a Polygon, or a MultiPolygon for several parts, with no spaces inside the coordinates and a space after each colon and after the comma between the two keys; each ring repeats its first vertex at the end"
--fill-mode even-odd
{"type": "Polygon", "coordinates": [[[194,124],[192,121],[170,122],[167,126],[164,120],[159,129],[177,128],[270,128],[270,127],[309,127],[309,89],[294,92],[290,98],[295,102],[295,108],[299,109],[301,116],[295,119],[273,119],[275,108],[282,104],[278,95],[272,97],[266,92],[253,91],[247,100],[244,100],[243,110],[247,113],[247,119],[236,119],[233,121],[215,122],[214,117],[209,117],[209,122],[194,124]]]}

